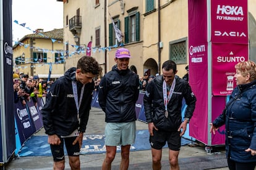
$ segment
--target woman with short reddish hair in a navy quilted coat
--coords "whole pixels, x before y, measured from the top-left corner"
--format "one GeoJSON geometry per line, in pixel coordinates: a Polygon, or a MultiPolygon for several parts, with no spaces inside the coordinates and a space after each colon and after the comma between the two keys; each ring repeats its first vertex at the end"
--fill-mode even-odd
{"type": "Polygon", "coordinates": [[[226,111],[213,121],[210,132],[226,125],[226,156],[229,169],[254,169],[256,165],[256,66],[253,61],[235,66],[237,87],[226,111]]]}

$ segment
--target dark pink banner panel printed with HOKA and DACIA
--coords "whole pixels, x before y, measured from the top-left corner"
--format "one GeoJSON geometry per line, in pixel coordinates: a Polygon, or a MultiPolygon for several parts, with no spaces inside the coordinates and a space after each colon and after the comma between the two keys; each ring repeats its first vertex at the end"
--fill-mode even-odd
{"type": "Polygon", "coordinates": [[[211,41],[248,44],[247,0],[211,1],[211,41]]]}

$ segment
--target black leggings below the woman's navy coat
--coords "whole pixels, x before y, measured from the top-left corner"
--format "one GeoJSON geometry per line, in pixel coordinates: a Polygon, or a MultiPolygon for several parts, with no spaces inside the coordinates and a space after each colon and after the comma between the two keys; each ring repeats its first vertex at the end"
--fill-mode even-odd
{"type": "Polygon", "coordinates": [[[228,158],[228,168],[230,170],[254,170],[256,163],[238,163],[228,158]]]}

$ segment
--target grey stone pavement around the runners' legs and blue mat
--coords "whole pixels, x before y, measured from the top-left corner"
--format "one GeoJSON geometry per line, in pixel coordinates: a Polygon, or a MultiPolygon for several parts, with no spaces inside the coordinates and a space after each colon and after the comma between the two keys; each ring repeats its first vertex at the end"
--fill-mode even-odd
{"type": "MultiPolygon", "coordinates": [[[[148,125],[145,122],[136,121],[137,130],[148,129],[148,125]]],[[[92,108],[87,131],[85,134],[104,134],[105,128],[105,114],[101,109],[92,108]]],[[[45,135],[44,129],[38,131],[35,135],[45,135]]],[[[218,147],[218,154],[224,155],[223,147],[218,147]]],[[[179,159],[189,158],[191,161],[193,158],[212,158],[214,159],[215,154],[208,155],[204,149],[204,145],[200,143],[195,147],[189,147],[188,145],[182,146],[179,153],[179,159]]],[[[88,154],[80,155],[81,169],[100,169],[100,166],[105,158],[105,153],[101,154],[88,154]]],[[[68,158],[66,157],[66,169],[70,169],[68,164],[68,158]]],[[[113,161],[113,169],[118,169],[118,165],[121,161],[120,153],[116,154],[116,158],[113,161]]],[[[226,159],[224,159],[226,161],[226,159]]],[[[163,149],[162,162],[165,162],[162,169],[169,169],[168,166],[168,148],[163,149]]],[[[130,152],[130,168],[129,169],[151,169],[151,150],[142,151],[131,151],[130,152]],[[147,168],[145,167],[147,164],[147,168]],[[148,168],[150,167],[150,168],[148,168]]],[[[9,163],[4,164],[0,169],[13,169],[13,170],[49,170],[53,169],[53,159],[51,156],[30,156],[30,157],[20,157],[14,158],[9,163]]],[[[189,169],[199,169],[197,166],[191,167],[189,169]]],[[[209,169],[209,168],[205,168],[209,169]]],[[[216,168],[216,169],[228,169],[226,168],[216,168]]]]}

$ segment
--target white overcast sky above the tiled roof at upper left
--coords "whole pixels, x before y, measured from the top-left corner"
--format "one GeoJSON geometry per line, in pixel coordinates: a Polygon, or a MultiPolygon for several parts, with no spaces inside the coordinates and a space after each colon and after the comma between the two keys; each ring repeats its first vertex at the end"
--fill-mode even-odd
{"type": "Polygon", "coordinates": [[[63,2],[12,0],[12,40],[20,40],[23,36],[32,34],[37,28],[42,28],[44,32],[63,28],[63,2]],[[14,20],[19,24],[26,23],[25,27],[14,20]]]}

